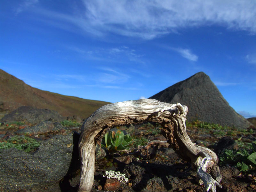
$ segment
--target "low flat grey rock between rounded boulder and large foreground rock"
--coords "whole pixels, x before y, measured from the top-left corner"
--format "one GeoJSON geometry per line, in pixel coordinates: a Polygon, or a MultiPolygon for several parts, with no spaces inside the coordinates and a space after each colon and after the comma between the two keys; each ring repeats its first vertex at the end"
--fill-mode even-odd
{"type": "Polygon", "coordinates": [[[44,121],[32,127],[25,127],[24,129],[20,129],[16,131],[16,134],[20,133],[45,133],[49,131],[60,131],[63,129],[61,123],[52,122],[52,121],[44,121]]]}

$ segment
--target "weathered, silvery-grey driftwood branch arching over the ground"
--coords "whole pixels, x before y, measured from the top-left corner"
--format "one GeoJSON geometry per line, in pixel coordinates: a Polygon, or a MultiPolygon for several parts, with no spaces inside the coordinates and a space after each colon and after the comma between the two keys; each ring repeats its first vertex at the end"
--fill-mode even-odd
{"type": "Polygon", "coordinates": [[[177,154],[191,162],[205,188],[215,192],[220,186],[221,175],[218,157],[208,148],[191,142],[186,132],[188,107],[180,103],[169,104],[154,99],[124,101],[105,105],[95,111],[83,124],[79,139],[81,176],[78,192],[90,192],[95,170],[95,148],[104,134],[112,127],[143,122],[158,122],[163,127],[162,134],[177,154]],[[208,169],[207,169],[208,168],[208,169]],[[212,170],[216,180],[206,172],[212,170]]]}

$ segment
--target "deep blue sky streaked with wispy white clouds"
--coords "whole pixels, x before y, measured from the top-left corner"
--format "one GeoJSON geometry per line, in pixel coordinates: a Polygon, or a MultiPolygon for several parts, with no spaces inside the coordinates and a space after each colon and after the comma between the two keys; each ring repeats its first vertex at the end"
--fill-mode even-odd
{"type": "Polygon", "coordinates": [[[42,90],[109,102],[203,71],[251,117],[255,18],[255,0],[2,0],[0,68],[42,90]]]}

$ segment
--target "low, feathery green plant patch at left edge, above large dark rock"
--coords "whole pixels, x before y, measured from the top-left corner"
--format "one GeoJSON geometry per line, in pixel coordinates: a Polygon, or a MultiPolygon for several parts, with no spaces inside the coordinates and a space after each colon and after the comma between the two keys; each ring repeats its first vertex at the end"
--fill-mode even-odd
{"type": "Polygon", "coordinates": [[[19,150],[24,150],[30,152],[36,150],[40,146],[40,142],[37,142],[35,139],[29,138],[27,136],[13,136],[8,140],[0,143],[1,149],[8,148],[17,148],[19,150]]]}

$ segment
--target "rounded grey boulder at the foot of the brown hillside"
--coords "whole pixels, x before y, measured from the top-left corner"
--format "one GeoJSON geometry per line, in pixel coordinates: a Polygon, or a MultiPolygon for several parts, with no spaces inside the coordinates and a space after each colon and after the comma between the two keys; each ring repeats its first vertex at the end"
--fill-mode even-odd
{"type": "Polygon", "coordinates": [[[5,115],[1,121],[25,121],[31,124],[38,124],[49,119],[59,122],[64,120],[64,118],[57,111],[22,106],[5,115]]]}

